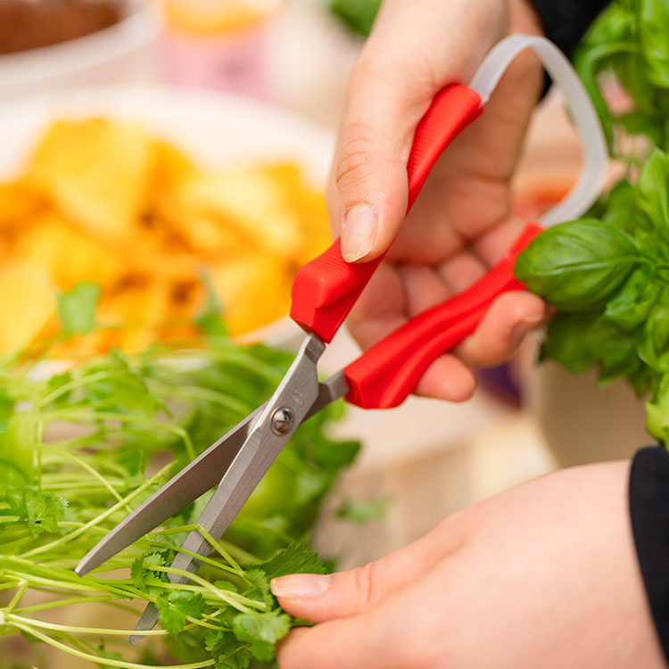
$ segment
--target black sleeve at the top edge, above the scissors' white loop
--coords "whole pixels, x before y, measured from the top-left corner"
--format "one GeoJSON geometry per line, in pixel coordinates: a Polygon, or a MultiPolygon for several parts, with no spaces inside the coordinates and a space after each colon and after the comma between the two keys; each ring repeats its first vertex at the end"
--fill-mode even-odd
{"type": "Polygon", "coordinates": [[[546,37],[569,55],[610,0],[532,0],[546,37]]]}

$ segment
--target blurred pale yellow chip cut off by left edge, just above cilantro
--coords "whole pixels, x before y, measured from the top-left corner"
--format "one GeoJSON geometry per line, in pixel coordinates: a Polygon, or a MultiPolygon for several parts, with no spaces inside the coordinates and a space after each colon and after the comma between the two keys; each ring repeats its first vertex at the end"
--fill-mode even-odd
{"type": "Polygon", "coordinates": [[[0,355],[26,348],[55,310],[54,289],[44,272],[19,263],[0,270],[0,355]]]}

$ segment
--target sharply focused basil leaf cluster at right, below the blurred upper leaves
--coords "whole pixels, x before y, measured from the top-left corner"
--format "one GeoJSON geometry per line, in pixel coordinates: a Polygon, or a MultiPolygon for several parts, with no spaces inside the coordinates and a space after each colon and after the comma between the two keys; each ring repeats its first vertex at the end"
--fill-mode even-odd
{"type": "MultiPolygon", "coordinates": [[[[656,150],[636,186],[623,182],[624,215],[549,228],[516,262],[516,277],[560,310],[543,357],[608,383],[650,393],[648,433],[669,444],[669,155],[656,150]],[[633,233],[628,232],[632,228],[633,233]]],[[[609,215],[610,212],[610,215],[609,215]]]]}

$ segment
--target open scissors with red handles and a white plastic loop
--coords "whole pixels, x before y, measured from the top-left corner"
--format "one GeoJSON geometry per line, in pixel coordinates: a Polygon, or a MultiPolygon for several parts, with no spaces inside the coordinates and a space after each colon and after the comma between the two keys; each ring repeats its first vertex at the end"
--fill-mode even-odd
{"type": "MultiPolygon", "coordinates": [[[[409,209],[442,151],[481,115],[509,62],[527,47],[533,48],[564,89],[584,149],[581,178],[541,223],[546,226],[575,218],[594,202],[604,179],[607,150],[590,98],[555,45],[542,37],[513,35],[492,49],[468,87],[443,88],[420,120],[407,165],[409,209]]],[[[326,343],[332,341],[382,260],[348,264],[337,239],[300,268],[294,279],[291,316],[307,336],[276,392],[103,537],[79,562],[76,572],[87,574],[102,565],[214,486],[218,487],[198,524],[218,539],[303,421],[342,397],[364,409],[400,405],[434,359],[474,332],[500,293],[524,289],[514,277],[514,264],[541,229],[539,224],[528,224],[506,256],[474,285],[411,318],[346,368],[319,382],[318,359],[326,343]]],[[[193,531],[182,551],[172,566],[194,573],[200,565],[197,557],[206,557],[211,545],[193,531]]],[[[169,578],[178,583],[187,580],[176,574],[169,578]]],[[[149,604],[130,640],[140,640],[141,632],[157,622],[158,611],[149,604]]]]}

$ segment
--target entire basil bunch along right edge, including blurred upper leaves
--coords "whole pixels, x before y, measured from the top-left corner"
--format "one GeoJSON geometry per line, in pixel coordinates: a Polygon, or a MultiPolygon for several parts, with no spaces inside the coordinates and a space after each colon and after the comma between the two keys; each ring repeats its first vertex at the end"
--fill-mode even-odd
{"type": "Polygon", "coordinates": [[[624,178],[588,218],[541,233],[516,277],[558,308],[541,357],[598,368],[602,384],[626,378],[648,396],[648,433],[669,446],[669,3],[617,0],[574,60],[624,178]],[[611,75],[625,111],[600,91],[611,75]]]}

